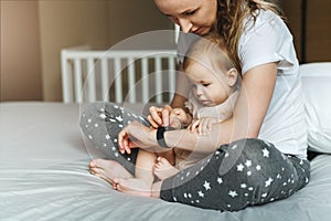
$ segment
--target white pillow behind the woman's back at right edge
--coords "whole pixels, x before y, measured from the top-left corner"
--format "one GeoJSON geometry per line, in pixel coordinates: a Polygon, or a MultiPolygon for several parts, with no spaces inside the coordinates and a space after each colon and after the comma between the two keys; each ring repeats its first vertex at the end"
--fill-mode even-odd
{"type": "Polygon", "coordinates": [[[331,154],[331,62],[300,65],[309,150],[331,154]]]}

